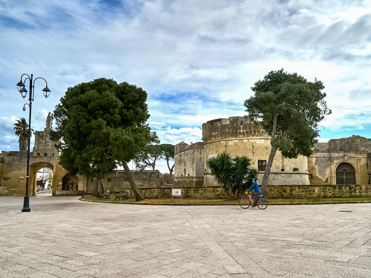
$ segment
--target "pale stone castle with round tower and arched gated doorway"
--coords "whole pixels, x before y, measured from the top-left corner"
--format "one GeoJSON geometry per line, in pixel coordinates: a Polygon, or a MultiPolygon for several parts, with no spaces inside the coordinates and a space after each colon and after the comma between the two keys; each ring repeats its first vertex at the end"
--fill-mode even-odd
{"type": "MultiPolygon", "coordinates": [[[[223,151],[246,155],[263,178],[270,152],[270,136],[249,116],[210,120],[202,125],[202,140],[175,145],[174,186],[213,186],[206,161],[223,151]]],[[[361,136],[316,143],[311,156],[284,158],[278,150],[269,185],[370,184],[371,139],[361,136]]]]}

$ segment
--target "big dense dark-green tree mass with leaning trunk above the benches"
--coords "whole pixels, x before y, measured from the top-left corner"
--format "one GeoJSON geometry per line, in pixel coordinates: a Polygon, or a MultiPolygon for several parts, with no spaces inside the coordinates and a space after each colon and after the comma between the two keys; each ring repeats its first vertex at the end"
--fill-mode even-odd
{"type": "Polygon", "coordinates": [[[62,152],[61,165],[100,180],[102,191],[102,177],[122,165],[137,201],[142,200],[127,162],[150,140],[146,100],[142,88],[113,79],[69,87],[55,108],[56,129],[51,133],[62,152]]]}

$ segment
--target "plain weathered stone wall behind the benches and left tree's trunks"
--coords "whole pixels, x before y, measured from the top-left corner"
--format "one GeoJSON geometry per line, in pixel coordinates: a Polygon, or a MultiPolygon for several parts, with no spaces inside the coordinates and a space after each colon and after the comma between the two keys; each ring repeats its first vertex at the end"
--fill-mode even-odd
{"type": "MultiPolygon", "coordinates": [[[[144,170],[144,171],[137,171],[131,170],[130,171],[133,179],[135,181],[135,185],[137,188],[148,188],[148,187],[156,187],[160,186],[160,171],[158,170],[144,170]]],[[[92,193],[93,192],[93,179],[87,178],[86,181],[86,192],[92,193]]],[[[126,189],[130,188],[130,183],[127,179],[126,173],[123,170],[118,170],[113,173],[109,173],[106,177],[103,178],[104,189],[113,191],[125,191],[126,189]]],[[[100,190],[100,189],[99,189],[100,190]]]]}

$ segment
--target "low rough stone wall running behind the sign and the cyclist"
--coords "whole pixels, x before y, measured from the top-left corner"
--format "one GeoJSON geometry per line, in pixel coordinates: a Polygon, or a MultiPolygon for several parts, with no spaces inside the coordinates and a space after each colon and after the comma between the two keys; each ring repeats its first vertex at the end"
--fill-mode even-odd
{"type": "MultiPolygon", "coordinates": [[[[225,199],[220,186],[182,187],[184,198],[225,199]]],[[[348,198],[371,196],[371,185],[268,185],[268,199],[348,198]]],[[[171,187],[138,188],[143,198],[171,198],[171,187]]],[[[135,198],[131,190],[129,198],[135,198]]]]}

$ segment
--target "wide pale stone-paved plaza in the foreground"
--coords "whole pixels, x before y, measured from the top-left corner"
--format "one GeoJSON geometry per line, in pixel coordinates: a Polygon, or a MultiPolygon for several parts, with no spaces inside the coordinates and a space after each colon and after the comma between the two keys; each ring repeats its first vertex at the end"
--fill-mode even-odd
{"type": "Polygon", "coordinates": [[[371,277],[371,204],[145,206],[0,196],[1,278],[371,277]]]}

